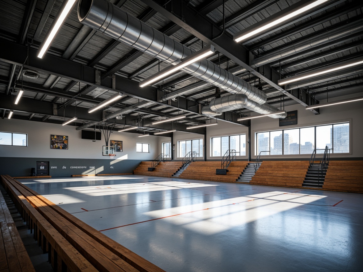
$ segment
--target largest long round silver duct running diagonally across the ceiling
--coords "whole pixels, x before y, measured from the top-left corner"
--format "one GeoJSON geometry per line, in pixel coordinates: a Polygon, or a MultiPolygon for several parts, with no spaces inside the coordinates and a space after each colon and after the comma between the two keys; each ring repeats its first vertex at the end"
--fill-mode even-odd
{"type": "MultiPolygon", "coordinates": [[[[153,29],[107,0],[80,0],[78,19],[90,28],[172,65],[193,53],[180,42],[153,29]]],[[[207,59],[192,63],[181,70],[232,94],[245,94],[259,104],[267,100],[264,92],[207,59]]]]}

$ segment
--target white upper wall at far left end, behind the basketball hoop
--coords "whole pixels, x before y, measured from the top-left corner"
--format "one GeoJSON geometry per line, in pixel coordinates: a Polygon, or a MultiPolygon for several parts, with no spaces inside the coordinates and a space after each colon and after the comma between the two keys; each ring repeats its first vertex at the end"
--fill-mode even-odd
{"type": "MultiPolygon", "coordinates": [[[[96,142],[81,139],[81,131],[69,125],[41,123],[17,119],[0,119],[0,131],[28,134],[28,147],[0,145],[0,157],[38,157],[38,158],[95,158],[102,156],[105,140],[96,142]],[[50,149],[50,135],[68,136],[68,149],[50,149]]],[[[139,138],[138,134],[113,132],[110,140],[123,141],[123,151],[116,152],[116,159],[154,160],[158,156],[158,137],[139,138]],[[150,153],[136,152],[136,143],[150,143],[150,153]]]]}

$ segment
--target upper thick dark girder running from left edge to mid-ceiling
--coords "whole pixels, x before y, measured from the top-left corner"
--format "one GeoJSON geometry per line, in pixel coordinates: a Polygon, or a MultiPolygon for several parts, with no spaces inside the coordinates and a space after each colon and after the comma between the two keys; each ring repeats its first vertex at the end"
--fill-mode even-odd
{"type": "MultiPolygon", "coordinates": [[[[115,88],[113,88],[113,79],[110,77],[103,79],[100,84],[97,84],[96,82],[98,81],[98,72],[96,69],[86,65],[82,65],[78,62],[69,61],[67,59],[57,57],[53,54],[46,54],[43,59],[40,59],[36,56],[36,51],[36,49],[29,48],[29,65],[24,65],[24,67],[28,67],[30,69],[34,69],[46,74],[57,75],[58,77],[68,78],[74,81],[80,81],[82,83],[90,85],[89,88],[101,87],[108,90],[119,91],[134,98],[154,102],[161,105],[167,105],[171,108],[179,108],[183,111],[199,114],[199,105],[194,101],[180,97],[178,99],[178,102],[170,101],[170,104],[168,102],[159,102],[159,99],[163,95],[162,91],[156,90],[155,88],[152,88],[150,86],[140,88],[138,82],[132,81],[127,78],[119,77],[117,75],[115,75],[115,88]],[[54,65],[54,63],[57,63],[57,65],[54,65]]],[[[26,46],[19,45],[0,38],[1,61],[23,66],[24,59],[26,59],[27,55],[28,48],[26,46]]],[[[53,88],[52,90],[54,89],[55,88],[53,88]]],[[[73,98],[74,95],[73,93],[65,92],[64,90],[59,90],[58,96],[60,96],[60,94],[62,94],[62,96],[69,96],[69,99],[73,98]]],[[[81,94],[77,94],[77,97],[85,98],[86,96],[84,92],[82,92],[81,94]]],[[[93,101],[93,103],[94,102],[95,101],[93,101]]],[[[234,118],[233,114],[233,118],[231,118],[229,115],[226,116],[228,117],[228,119],[226,119],[225,121],[237,120],[237,118],[234,118]]],[[[232,121],[232,123],[241,124],[237,121],[232,121]]]]}

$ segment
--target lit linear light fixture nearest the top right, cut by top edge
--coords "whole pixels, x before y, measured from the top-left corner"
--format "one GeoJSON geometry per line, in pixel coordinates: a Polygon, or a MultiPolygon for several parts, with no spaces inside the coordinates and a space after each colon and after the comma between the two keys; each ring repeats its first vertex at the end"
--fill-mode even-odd
{"type": "Polygon", "coordinates": [[[285,22],[291,18],[294,18],[312,8],[315,8],[317,7],[318,5],[321,5],[325,2],[327,2],[329,0],[315,0],[315,1],[310,1],[308,3],[306,3],[305,5],[303,6],[299,6],[297,8],[293,8],[291,9],[289,12],[287,13],[284,13],[272,20],[269,20],[267,22],[265,22],[264,24],[262,25],[259,25],[257,27],[249,27],[249,28],[246,28],[240,32],[237,32],[233,35],[233,40],[236,41],[236,42],[240,42],[240,41],[244,41],[258,33],[261,33],[261,32],[264,32],[265,30],[267,29],[270,29],[278,24],[281,24],[282,22],[285,22]]]}

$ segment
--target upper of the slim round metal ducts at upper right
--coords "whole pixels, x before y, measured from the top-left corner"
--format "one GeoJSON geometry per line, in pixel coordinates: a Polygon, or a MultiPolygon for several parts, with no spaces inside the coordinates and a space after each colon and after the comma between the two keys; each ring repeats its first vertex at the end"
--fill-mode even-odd
{"type": "Polygon", "coordinates": [[[303,40],[301,42],[293,43],[279,51],[274,51],[262,57],[255,58],[253,61],[251,61],[251,67],[260,67],[261,65],[278,61],[281,58],[289,57],[293,54],[314,48],[327,42],[338,40],[342,37],[347,37],[362,30],[363,20],[357,20],[355,22],[351,22],[350,24],[340,26],[339,28],[323,32],[322,34],[314,36],[314,38],[311,40],[303,40]]]}

